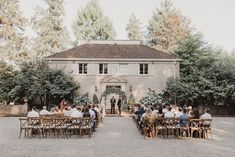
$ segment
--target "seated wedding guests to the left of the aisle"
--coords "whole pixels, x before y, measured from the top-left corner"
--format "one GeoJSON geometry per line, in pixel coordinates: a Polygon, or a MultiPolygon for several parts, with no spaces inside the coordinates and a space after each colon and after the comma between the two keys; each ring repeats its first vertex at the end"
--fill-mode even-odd
{"type": "Polygon", "coordinates": [[[66,105],[60,106],[60,108],[55,106],[52,107],[50,111],[47,110],[46,106],[43,106],[42,110],[37,110],[36,107],[32,107],[32,110],[28,112],[27,117],[40,117],[47,115],[60,115],[71,118],[91,117],[93,131],[95,131],[99,113],[100,109],[95,104],[83,106],[66,105]]]}

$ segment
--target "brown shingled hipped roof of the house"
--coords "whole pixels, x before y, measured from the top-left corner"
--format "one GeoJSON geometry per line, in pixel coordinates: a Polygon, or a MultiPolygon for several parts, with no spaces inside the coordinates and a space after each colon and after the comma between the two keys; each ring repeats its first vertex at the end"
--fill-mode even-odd
{"type": "Polygon", "coordinates": [[[47,59],[178,59],[177,55],[142,44],[84,44],[47,59]]]}

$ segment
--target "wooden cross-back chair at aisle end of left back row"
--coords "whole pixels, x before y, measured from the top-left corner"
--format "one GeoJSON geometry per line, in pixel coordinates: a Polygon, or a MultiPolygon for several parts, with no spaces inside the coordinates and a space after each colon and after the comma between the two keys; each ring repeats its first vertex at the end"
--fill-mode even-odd
{"type": "Polygon", "coordinates": [[[85,134],[88,133],[89,137],[91,138],[92,135],[92,120],[91,117],[83,117],[80,118],[80,138],[85,134]]]}

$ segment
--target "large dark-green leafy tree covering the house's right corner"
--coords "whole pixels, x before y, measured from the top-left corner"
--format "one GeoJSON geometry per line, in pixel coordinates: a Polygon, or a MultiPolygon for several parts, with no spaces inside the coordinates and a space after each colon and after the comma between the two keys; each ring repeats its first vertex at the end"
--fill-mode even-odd
{"type": "MultiPolygon", "coordinates": [[[[222,50],[219,50],[222,51],[222,50]]],[[[235,93],[234,58],[211,48],[201,35],[188,35],[176,53],[182,59],[180,78],[171,78],[165,92],[173,103],[194,105],[232,104],[235,93]]]]}

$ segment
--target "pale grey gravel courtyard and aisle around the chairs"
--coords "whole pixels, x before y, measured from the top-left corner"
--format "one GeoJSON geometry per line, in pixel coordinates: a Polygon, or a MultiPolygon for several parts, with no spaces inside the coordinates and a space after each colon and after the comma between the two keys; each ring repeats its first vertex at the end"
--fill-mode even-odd
{"type": "Polygon", "coordinates": [[[0,157],[234,157],[235,118],[213,118],[213,139],[144,140],[131,118],[104,118],[91,139],[18,138],[18,118],[0,118],[0,157]]]}

